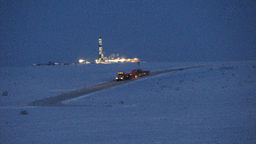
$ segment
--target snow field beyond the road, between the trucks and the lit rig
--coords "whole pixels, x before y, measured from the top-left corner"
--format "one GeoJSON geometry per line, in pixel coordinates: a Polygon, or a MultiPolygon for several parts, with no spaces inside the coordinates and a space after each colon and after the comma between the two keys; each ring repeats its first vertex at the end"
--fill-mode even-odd
{"type": "MultiPolygon", "coordinates": [[[[140,67],[154,71],[190,65],[201,63],[141,63],[140,67]]],[[[117,72],[136,68],[137,63],[0,68],[0,94],[8,92],[8,97],[0,97],[0,107],[26,106],[28,102],[112,81],[117,72]]]]}

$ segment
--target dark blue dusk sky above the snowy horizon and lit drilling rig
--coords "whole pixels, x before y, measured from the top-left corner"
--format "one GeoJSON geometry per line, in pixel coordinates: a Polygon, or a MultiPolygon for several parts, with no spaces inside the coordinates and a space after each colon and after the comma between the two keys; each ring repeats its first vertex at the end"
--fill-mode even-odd
{"type": "Polygon", "coordinates": [[[256,60],[255,1],[3,1],[0,67],[94,61],[256,60]]]}

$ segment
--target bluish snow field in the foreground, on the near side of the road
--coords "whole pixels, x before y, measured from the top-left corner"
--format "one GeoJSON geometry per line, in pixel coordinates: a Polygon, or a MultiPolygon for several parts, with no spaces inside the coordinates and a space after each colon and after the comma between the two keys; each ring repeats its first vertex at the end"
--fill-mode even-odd
{"type": "Polygon", "coordinates": [[[0,143],[256,143],[255,64],[160,74],[64,106],[4,106],[0,143]]]}

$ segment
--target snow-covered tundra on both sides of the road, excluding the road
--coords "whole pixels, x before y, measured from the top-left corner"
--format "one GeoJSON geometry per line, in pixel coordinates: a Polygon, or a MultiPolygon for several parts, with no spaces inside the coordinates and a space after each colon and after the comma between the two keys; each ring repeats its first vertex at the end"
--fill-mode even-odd
{"type": "Polygon", "coordinates": [[[112,81],[136,63],[1,68],[0,143],[256,143],[255,61],[141,68],[212,64],[146,77],[56,107],[26,104],[112,81]]]}

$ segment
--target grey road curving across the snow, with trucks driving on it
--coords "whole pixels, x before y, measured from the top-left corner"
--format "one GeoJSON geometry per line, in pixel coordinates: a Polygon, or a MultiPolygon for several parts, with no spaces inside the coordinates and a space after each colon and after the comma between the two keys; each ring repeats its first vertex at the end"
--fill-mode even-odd
{"type": "MultiPolygon", "coordinates": [[[[206,66],[198,66],[198,67],[206,67],[206,66]]],[[[185,69],[189,69],[189,68],[198,68],[198,67],[184,67],[184,68],[173,68],[173,69],[169,69],[169,70],[158,70],[155,72],[151,72],[147,76],[138,77],[136,79],[130,79],[127,81],[119,81],[119,82],[109,81],[106,83],[101,83],[101,84],[97,84],[95,86],[91,86],[89,88],[82,88],[80,90],[74,90],[72,92],[67,92],[67,93],[63,93],[63,94],[56,95],[53,97],[48,97],[48,98],[45,98],[42,100],[36,100],[34,102],[29,102],[28,105],[29,106],[59,106],[59,105],[61,105],[61,101],[74,99],[76,97],[88,95],[89,93],[99,92],[101,90],[112,88],[112,87],[118,86],[120,84],[129,83],[131,81],[136,81],[138,79],[143,79],[145,77],[156,76],[158,74],[163,74],[166,72],[174,72],[174,71],[185,70],[185,69]]]]}

